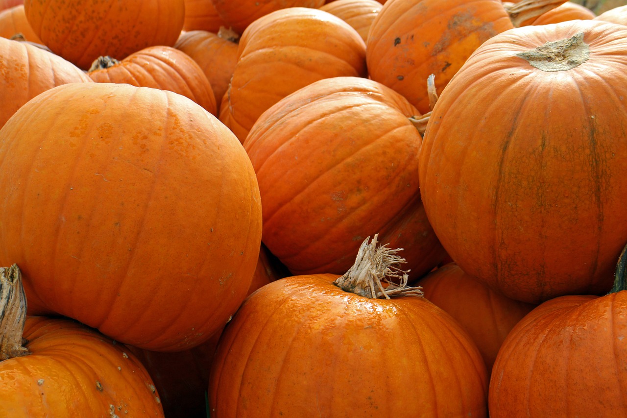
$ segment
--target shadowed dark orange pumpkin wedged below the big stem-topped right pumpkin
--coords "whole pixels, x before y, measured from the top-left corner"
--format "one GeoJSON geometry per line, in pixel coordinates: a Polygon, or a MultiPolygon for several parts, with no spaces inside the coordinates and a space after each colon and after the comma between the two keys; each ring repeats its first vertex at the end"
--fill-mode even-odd
{"type": "Polygon", "coordinates": [[[452,262],[415,283],[424,297],[450,314],[470,335],[479,349],[488,372],[503,340],[520,319],[535,308],[505,297],[468,276],[452,262]]]}

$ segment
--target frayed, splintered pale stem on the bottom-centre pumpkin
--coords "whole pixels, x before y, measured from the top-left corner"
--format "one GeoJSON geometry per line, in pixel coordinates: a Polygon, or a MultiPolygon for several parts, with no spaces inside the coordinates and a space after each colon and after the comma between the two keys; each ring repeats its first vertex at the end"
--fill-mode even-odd
{"type": "Polygon", "coordinates": [[[423,296],[422,287],[407,286],[407,271],[399,269],[405,259],[396,255],[402,249],[390,249],[387,245],[377,247],[378,234],[368,243],[367,237],[359,247],[355,264],[334,284],[346,292],[371,299],[390,299],[390,296],[423,296]],[[397,284],[389,278],[400,279],[397,284]],[[385,285],[384,285],[385,284],[385,285]]]}

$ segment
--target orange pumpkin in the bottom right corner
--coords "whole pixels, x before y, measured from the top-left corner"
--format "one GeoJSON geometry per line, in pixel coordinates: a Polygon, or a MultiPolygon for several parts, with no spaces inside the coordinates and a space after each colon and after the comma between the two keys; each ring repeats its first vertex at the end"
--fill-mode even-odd
{"type": "Polygon", "coordinates": [[[490,417],[627,414],[627,292],[562,296],[525,316],[492,369],[490,417]]]}

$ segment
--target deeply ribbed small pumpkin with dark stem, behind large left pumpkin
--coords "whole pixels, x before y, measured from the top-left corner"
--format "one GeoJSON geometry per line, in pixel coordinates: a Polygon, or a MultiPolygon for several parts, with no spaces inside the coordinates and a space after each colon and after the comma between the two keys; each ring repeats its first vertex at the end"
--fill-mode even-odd
{"type": "Polygon", "coordinates": [[[216,97],[209,80],[190,56],[171,46],[149,46],[118,61],[100,56],[88,75],[98,83],[129,83],[160,88],[194,100],[216,115],[216,97]]]}

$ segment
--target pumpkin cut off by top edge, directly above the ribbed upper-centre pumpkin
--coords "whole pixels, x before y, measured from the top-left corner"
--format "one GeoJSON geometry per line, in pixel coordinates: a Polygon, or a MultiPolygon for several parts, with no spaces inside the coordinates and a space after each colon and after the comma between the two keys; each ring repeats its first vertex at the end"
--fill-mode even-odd
{"type": "Polygon", "coordinates": [[[258,18],[286,8],[319,8],[324,0],[211,0],[225,26],[237,33],[243,31],[258,18]]]}

